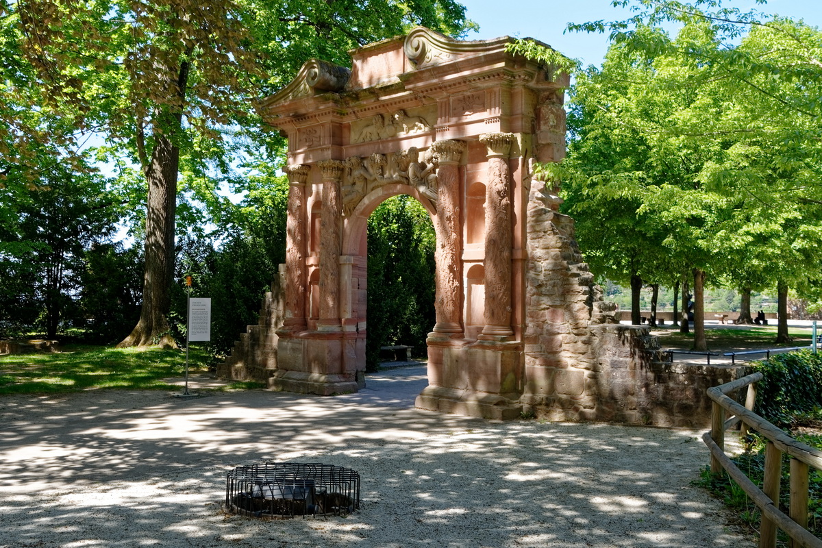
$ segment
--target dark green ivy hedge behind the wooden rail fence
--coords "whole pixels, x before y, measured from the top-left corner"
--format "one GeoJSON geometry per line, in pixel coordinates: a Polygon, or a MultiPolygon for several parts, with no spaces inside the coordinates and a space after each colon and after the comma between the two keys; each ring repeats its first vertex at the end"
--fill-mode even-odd
{"type": "Polygon", "coordinates": [[[755,412],[776,425],[822,408],[822,354],[788,352],[752,365],[764,378],[757,384],[755,412]]]}

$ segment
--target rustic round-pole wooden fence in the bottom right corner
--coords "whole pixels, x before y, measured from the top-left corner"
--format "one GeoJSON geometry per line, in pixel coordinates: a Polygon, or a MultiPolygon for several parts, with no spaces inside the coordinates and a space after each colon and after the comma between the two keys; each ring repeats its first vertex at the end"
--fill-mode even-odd
{"type": "Polygon", "coordinates": [[[808,474],[810,467],[822,469],[822,451],[794,440],[769,421],[753,412],[755,383],[762,380],[761,373],[747,375],[741,379],[708,389],[712,400],[711,430],[705,432],[702,440],[711,451],[711,472],[728,476],[745,491],[746,495],[760,508],[760,548],[775,548],[777,528],[790,538],[791,548],[822,548],[822,540],[807,530],[808,525],[808,474]],[[737,403],[727,394],[747,387],[746,404],[737,403]],[[726,412],[732,414],[725,419],[726,412]],[[725,454],[725,431],[742,421],[742,433],[755,428],[767,439],[765,446],[765,466],[763,486],[760,490],[753,481],[725,454]],[[783,454],[791,458],[791,504],[790,515],[779,509],[779,480],[782,477],[783,454]]]}

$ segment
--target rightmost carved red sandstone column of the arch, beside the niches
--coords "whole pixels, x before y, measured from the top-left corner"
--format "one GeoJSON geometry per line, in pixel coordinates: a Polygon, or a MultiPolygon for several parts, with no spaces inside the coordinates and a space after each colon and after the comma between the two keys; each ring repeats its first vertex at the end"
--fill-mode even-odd
{"type": "Polygon", "coordinates": [[[511,185],[508,156],[512,133],[479,137],[488,148],[485,195],[485,327],[479,338],[500,338],[511,330],[511,185]]]}

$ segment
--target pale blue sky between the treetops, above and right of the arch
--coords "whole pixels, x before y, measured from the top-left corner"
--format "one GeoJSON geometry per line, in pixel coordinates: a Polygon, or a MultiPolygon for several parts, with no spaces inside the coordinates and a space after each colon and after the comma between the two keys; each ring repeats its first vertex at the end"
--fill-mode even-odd
{"type": "MultiPolygon", "coordinates": [[[[531,37],[545,42],[570,58],[583,60],[584,65],[599,65],[608,47],[607,35],[564,33],[568,22],[617,21],[627,19],[631,12],[612,7],[611,0],[459,0],[468,8],[468,16],[479,26],[478,33],[468,39],[491,39],[498,36],[531,37]]],[[[770,0],[756,4],[754,0],[732,0],[728,7],[755,8],[760,12],[777,13],[804,19],[809,25],[822,27],[820,0],[770,0]]]]}

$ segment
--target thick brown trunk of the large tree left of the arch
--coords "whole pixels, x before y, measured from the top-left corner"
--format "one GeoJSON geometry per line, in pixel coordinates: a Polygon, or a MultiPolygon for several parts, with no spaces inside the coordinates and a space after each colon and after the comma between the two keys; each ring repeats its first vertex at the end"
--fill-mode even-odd
{"type": "Polygon", "coordinates": [[[145,217],[145,269],[140,320],[117,346],[176,348],[166,315],[174,268],[174,217],[177,210],[179,149],[167,136],[158,136],[145,178],[149,185],[145,217]]]}

